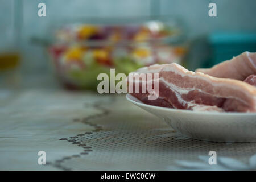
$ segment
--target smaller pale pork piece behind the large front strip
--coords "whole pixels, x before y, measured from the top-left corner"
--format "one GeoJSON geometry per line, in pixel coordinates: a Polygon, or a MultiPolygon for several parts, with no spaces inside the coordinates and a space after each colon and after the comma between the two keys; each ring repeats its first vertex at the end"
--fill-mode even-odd
{"type": "Polygon", "coordinates": [[[214,65],[212,68],[196,69],[196,72],[218,78],[232,78],[243,81],[249,75],[256,73],[256,53],[243,52],[241,55],[214,65]]]}

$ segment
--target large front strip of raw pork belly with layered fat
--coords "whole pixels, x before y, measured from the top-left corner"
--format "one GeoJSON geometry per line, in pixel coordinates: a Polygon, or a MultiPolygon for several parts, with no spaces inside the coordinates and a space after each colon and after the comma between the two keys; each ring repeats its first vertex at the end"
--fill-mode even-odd
{"type": "MultiPolygon", "coordinates": [[[[191,72],[176,63],[156,64],[135,73],[159,73],[157,100],[148,100],[148,93],[129,92],[146,104],[190,110],[256,111],[256,88],[242,81],[191,72]]],[[[147,84],[151,81],[147,80],[147,84]]]]}

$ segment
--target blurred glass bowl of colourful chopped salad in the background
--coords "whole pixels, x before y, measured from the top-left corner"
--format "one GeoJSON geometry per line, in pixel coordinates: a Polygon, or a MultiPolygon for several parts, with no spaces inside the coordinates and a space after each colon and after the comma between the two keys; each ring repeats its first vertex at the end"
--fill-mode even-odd
{"type": "Polygon", "coordinates": [[[47,52],[64,86],[97,89],[98,74],[110,74],[110,68],[127,75],[151,64],[181,64],[186,48],[180,36],[179,28],[160,21],[67,23],[53,31],[47,52]]]}

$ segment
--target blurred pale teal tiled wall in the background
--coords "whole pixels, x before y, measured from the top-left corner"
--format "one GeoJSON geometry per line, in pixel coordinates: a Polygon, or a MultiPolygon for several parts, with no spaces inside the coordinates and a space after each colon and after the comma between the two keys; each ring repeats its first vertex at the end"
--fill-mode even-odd
{"type": "Polygon", "coordinates": [[[30,43],[31,36],[45,35],[56,19],[105,16],[168,15],[183,19],[190,40],[216,30],[256,31],[255,0],[0,0],[0,50],[5,49],[13,34],[14,1],[19,1],[20,41],[23,67],[27,72],[47,68],[43,49],[30,43]],[[38,3],[47,6],[47,16],[38,17],[38,3]],[[217,17],[208,16],[210,2],[217,4],[217,17]],[[8,35],[8,36],[7,36],[8,35]]]}

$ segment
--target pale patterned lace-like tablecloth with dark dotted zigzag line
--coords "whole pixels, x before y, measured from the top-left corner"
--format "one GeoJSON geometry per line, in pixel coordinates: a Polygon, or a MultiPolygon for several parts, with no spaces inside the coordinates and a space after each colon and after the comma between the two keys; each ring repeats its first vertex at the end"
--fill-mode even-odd
{"type": "Polygon", "coordinates": [[[256,169],[256,143],[181,137],[124,95],[0,90],[0,108],[0,169],[256,169]],[[209,151],[217,165],[208,163],[209,151]]]}

